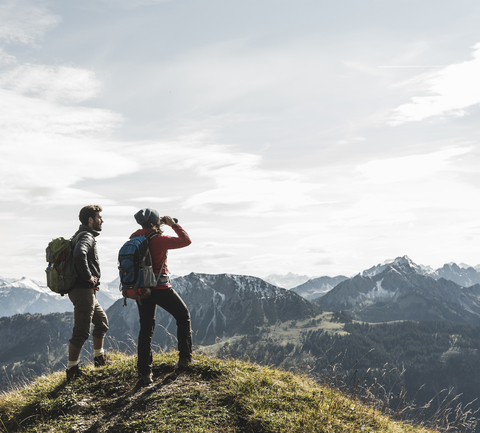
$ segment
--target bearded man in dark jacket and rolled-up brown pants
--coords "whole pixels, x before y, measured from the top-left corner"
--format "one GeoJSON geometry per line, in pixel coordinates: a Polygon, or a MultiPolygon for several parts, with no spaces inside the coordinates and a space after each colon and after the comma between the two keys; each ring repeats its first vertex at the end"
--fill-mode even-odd
{"type": "Polygon", "coordinates": [[[84,373],[78,367],[80,352],[90,335],[93,323],[93,349],[95,367],[111,363],[105,357],[103,339],[108,331],[107,315],[97,301],[96,291],[100,285],[95,238],[102,231],[102,208],[98,205],[85,206],[80,210],[81,225],[73,236],[73,261],[77,277],[68,297],[74,306],[74,327],[68,349],[67,382],[84,373]]]}

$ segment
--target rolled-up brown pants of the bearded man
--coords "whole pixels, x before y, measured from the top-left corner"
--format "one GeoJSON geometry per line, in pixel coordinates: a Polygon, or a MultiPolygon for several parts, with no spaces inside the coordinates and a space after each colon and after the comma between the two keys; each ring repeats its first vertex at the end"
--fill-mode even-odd
{"type": "Polygon", "coordinates": [[[68,297],[73,303],[74,326],[70,343],[82,348],[90,335],[93,323],[94,337],[103,338],[108,331],[108,319],[97,301],[94,289],[72,289],[68,297]]]}

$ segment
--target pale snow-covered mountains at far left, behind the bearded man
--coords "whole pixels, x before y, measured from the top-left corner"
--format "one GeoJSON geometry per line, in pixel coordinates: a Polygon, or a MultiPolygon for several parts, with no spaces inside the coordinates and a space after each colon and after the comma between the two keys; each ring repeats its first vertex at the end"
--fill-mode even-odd
{"type": "MultiPolygon", "coordinates": [[[[118,281],[101,286],[97,297],[104,309],[119,297],[118,281]],[[114,292],[113,287],[116,288],[114,292]]],[[[28,278],[0,278],[0,317],[15,314],[49,314],[72,311],[68,296],[52,292],[45,284],[28,278]]]]}

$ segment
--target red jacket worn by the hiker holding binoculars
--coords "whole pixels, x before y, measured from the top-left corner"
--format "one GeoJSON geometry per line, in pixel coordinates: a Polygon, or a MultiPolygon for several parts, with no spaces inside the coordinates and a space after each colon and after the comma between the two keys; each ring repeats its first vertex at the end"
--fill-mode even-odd
{"type": "MultiPolygon", "coordinates": [[[[153,272],[158,275],[160,266],[165,260],[168,250],[174,250],[177,248],[183,248],[192,243],[187,232],[179,224],[174,224],[172,229],[175,231],[178,237],[166,236],[166,235],[157,235],[150,239],[150,254],[152,256],[153,272]]],[[[151,233],[152,229],[140,229],[132,234],[133,236],[143,235],[146,236],[151,233]]],[[[167,260],[163,265],[162,274],[167,274],[167,260]]],[[[157,289],[168,289],[172,287],[170,283],[158,285],[157,289]]]]}

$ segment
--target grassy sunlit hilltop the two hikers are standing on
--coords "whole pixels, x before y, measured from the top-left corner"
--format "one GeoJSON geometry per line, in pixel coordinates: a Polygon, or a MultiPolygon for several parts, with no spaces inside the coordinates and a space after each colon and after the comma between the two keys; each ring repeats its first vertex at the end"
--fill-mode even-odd
{"type": "Polygon", "coordinates": [[[154,383],[137,384],[135,358],[63,372],[0,396],[0,432],[385,432],[427,433],[306,377],[243,361],[197,355],[185,370],[156,354],[154,383]]]}

